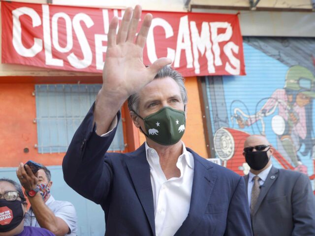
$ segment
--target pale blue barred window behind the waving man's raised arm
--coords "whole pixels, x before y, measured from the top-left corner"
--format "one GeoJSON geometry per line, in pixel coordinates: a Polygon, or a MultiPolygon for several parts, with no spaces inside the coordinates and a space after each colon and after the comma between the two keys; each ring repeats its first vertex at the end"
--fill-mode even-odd
{"type": "MultiPolygon", "coordinates": [[[[35,85],[37,148],[39,153],[65,152],[74,132],[86,116],[100,84],[35,85]]],[[[120,120],[110,151],[123,151],[120,120]]]]}

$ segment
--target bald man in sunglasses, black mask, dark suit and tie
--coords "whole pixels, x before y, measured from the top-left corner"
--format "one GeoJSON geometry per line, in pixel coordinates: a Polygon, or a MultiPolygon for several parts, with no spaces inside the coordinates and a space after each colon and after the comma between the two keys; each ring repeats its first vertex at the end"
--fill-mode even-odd
{"type": "Polygon", "coordinates": [[[310,180],[302,173],[277,169],[268,140],[252,135],[244,143],[251,167],[245,182],[254,236],[315,235],[315,196],[310,180]]]}

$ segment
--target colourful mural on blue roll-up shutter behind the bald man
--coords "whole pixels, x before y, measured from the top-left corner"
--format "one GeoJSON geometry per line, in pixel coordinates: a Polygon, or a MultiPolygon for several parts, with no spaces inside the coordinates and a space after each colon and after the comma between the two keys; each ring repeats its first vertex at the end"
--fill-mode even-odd
{"type": "Polygon", "coordinates": [[[244,54],[246,76],[206,79],[214,154],[247,174],[244,141],[264,135],[274,166],[305,173],[315,189],[315,40],[249,37],[244,54]]]}

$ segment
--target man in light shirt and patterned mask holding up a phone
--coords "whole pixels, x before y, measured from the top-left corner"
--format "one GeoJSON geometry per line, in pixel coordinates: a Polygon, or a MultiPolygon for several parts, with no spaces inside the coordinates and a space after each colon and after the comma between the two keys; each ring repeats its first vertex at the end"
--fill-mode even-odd
{"type": "Polygon", "coordinates": [[[25,189],[31,207],[25,216],[25,225],[48,229],[56,236],[76,236],[77,216],[74,206],[56,201],[50,194],[50,171],[43,165],[35,174],[28,165],[20,163],[17,177],[25,189]]]}

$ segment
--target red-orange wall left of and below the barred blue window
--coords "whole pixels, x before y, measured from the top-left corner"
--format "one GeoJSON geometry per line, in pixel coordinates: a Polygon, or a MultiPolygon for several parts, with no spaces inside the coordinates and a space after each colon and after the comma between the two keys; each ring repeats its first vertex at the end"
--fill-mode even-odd
{"type": "Polygon", "coordinates": [[[44,165],[61,165],[64,153],[39,154],[37,143],[34,84],[0,84],[0,167],[17,167],[33,160],[44,165]],[[23,149],[29,148],[28,153],[23,149]]]}

